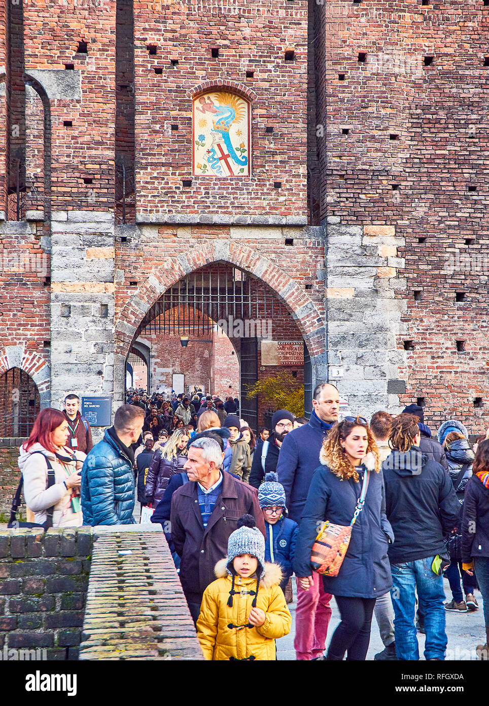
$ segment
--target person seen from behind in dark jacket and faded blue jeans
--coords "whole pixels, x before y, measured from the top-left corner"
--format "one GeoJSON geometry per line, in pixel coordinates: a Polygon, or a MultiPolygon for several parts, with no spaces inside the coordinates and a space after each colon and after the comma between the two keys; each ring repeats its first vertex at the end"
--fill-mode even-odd
{"type": "Polygon", "coordinates": [[[408,414],[394,419],[391,443],[395,443],[402,430],[402,440],[407,440],[409,448],[394,449],[382,466],[385,512],[395,536],[388,551],[395,645],[397,659],[419,659],[414,626],[416,587],[424,614],[425,658],[445,659],[445,591],[442,575],[436,574],[432,567],[437,556],[446,552],[443,535],[457,525],[460,505],[450,475],[421,453],[421,432],[416,421],[417,417],[408,414]]]}

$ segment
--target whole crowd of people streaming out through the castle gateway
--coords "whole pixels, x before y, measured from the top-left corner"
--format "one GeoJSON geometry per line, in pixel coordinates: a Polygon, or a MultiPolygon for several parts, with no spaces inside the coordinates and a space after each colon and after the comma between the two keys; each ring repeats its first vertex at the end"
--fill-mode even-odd
{"type": "Polygon", "coordinates": [[[483,597],[489,658],[489,433],[457,419],[434,435],[424,408],[340,417],[334,385],[311,417],[277,410],[250,429],[239,401],[133,390],[96,445],[77,395],[43,409],[20,448],[27,508],[44,527],[161,524],[204,657],[364,660],[376,618],[378,661],[445,659],[447,611],[483,597]],[[452,599],[445,599],[443,577],[452,599]],[[340,624],[328,637],[332,597],[340,624]]]}

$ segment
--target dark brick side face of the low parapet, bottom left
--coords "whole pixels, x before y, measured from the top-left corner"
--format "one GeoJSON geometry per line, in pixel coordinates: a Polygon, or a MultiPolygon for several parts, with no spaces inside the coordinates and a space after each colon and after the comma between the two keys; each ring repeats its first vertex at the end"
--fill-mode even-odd
{"type": "Polygon", "coordinates": [[[92,544],[91,527],[0,532],[1,649],[78,659],[92,544]]]}

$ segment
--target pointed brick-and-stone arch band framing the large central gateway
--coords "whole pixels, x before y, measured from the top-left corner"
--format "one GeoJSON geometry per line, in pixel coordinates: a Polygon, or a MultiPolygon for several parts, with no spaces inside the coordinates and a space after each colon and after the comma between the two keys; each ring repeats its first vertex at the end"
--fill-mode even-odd
{"type": "Polygon", "coordinates": [[[209,243],[186,255],[166,258],[120,311],[115,328],[116,356],[125,359],[143,316],[169,287],[194,270],[219,261],[231,263],[265,282],[296,321],[311,359],[323,357],[326,350],[324,321],[309,295],[271,260],[236,241],[209,243]]]}

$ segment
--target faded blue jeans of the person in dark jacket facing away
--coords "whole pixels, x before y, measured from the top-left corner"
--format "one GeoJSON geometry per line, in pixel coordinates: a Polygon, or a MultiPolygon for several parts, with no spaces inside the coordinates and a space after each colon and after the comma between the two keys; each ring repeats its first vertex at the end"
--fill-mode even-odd
{"type": "Polygon", "coordinates": [[[445,591],[443,577],[431,570],[434,556],[402,564],[391,564],[392,606],[394,606],[394,633],[397,659],[419,659],[419,645],[414,626],[414,590],[424,614],[426,641],[425,659],[445,659],[445,591]]]}

